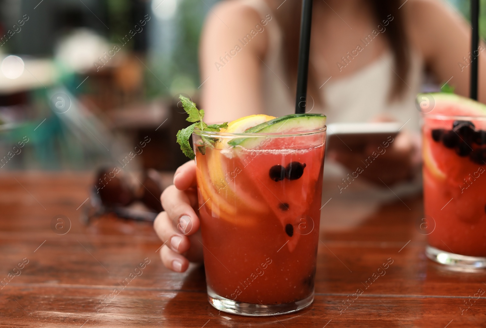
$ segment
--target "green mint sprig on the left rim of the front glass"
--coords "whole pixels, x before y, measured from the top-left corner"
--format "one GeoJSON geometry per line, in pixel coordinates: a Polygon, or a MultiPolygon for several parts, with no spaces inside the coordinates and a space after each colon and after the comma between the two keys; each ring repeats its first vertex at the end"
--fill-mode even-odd
{"type": "MultiPolygon", "coordinates": [[[[186,121],[191,122],[192,124],[187,127],[183,128],[182,130],[177,131],[177,143],[181,146],[181,150],[190,159],[194,159],[194,152],[192,151],[191,145],[189,144],[189,138],[191,138],[192,132],[194,128],[199,128],[201,131],[212,131],[212,132],[219,132],[221,128],[227,128],[228,122],[223,124],[212,124],[207,125],[203,122],[204,118],[204,110],[197,109],[196,104],[194,104],[189,98],[184,97],[183,95],[179,95],[179,99],[181,100],[182,107],[188,113],[189,117],[186,118],[186,121]]],[[[203,140],[213,143],[213,139],[209,138],[202,138],[203,140]],[[207,139],[207,140],[206,140],[207,139]]],[[[204,155],[204,150],[201,152],[204,155]]]]}

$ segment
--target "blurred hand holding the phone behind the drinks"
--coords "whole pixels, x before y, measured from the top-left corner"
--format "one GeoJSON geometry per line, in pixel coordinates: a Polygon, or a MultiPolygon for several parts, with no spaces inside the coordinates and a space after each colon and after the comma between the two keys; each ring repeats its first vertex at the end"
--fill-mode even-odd
{"type": "Polygon", "coordinates": [[[328,155],[350,172],[357,172],[366,180],[382,186],[383,183],[389,186],[413,179],[420,165],[418,138],[406,132],[395,137],[388,147],[368,144],[363,149],[352,151],[343,147],[330,150],[328,155]],[[361,173],[359,167],[362,168],[361,173]]]}

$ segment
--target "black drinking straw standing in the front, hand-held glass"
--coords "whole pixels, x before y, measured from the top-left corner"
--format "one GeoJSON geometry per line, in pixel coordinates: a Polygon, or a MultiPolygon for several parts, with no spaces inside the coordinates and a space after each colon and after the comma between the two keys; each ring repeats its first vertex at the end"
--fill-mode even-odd
{"type": "Polygon", "coordinates": [[[309,45],[311,43],[311,19],[312,0],[302,0],[295,114],[305,113],[307,99],[307,74],[309,72],[309,45]]]}

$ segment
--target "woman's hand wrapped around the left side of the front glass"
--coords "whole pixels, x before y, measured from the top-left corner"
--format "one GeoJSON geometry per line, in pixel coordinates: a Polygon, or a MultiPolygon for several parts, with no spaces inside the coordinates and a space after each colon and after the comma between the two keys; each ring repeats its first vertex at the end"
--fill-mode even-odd
{"type": "Polygon", "coordinates": [[[189,262],[203,260],[194,161],[175,171],[174,184],[164,190],[160,200],[165,211],[157,215],[154,229],[164,243],[162,263],[175,272],[185,272],[189,262]]]}

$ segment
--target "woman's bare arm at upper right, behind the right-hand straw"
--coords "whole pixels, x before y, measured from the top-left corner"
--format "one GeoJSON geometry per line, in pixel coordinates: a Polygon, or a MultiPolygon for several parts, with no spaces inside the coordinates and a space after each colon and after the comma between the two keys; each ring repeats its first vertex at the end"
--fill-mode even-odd
{"type": "MultiPolygon", "coordinates": [[[[455,93],[469,97],[471,28],[445,1],[410,0],[405,10],[406,27],[412,45],[421,51],[427,68],[438,83],[455,87],[455,93]],[[465,58],[467,60],[465,60],[465,58]]],[[[486,103],[486,50],[480,43],[479,101],[486,103]]]]}

